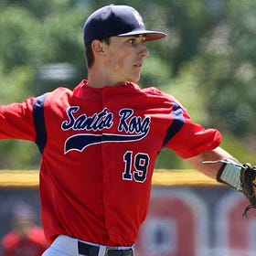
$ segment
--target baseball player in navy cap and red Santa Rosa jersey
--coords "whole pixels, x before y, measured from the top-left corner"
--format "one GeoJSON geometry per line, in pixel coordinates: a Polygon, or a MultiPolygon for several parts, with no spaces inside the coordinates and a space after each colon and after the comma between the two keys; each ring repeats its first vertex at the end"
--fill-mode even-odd
{"type": "Polygon", "coordinates": [[[104,6],[84,25],[87,80],[0,107],[0,138],[35,142],[42,155],[44,256],[134,255],[163,147],[213,178],[222,164],[203,161],[233,159],[219,131],[194,123],[171,95],[136,84],[145,42],[165,36],[146,30],[131,6],[104,6]]]}

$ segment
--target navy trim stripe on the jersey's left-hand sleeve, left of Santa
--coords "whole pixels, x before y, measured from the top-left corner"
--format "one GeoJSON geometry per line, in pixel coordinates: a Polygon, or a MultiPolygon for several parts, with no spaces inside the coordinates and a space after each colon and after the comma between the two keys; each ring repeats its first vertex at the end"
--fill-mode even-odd
{"type": "Polygon", "coordinates": [[[33,117],[34,124],[37,132],[36,136],[36,144],[41,152],[44,151],[45,145],[47,144],[47,131],[46,131],[46,123],[44,116],[44,103],[46,98],[46,93],[38,96],[33,105],[33,117]]]}

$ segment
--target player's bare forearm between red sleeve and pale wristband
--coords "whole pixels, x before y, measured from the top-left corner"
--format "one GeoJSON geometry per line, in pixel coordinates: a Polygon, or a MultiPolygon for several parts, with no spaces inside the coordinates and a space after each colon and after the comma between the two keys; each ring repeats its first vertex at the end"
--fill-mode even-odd
{"type": "Polygon", "coordinates": [[[197,171],[204,173],[211,178],[217,178],[219,169],[223,165],[221,162],[210,163],[211,161],[219,160],[232,160],[234,162],[239,162],[234,156],[230,155],[229,152],[221,147],[217,147],[213,150],[204,151],[199,155],[189,157],[186,159],[187,163],[197,169],[197,171]],[[205,164],[204,162],[208,162],[205,164]]]}

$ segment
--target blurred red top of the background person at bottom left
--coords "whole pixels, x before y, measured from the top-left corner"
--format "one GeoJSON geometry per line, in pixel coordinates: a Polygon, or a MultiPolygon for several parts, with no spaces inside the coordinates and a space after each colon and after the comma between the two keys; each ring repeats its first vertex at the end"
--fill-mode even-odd
{"type": "Polygon", "coordinates": [[[3,256],[41,256],[48,248],[43,229],[33,227],[27,237],[10,231],[2,240],[3,256]]]}

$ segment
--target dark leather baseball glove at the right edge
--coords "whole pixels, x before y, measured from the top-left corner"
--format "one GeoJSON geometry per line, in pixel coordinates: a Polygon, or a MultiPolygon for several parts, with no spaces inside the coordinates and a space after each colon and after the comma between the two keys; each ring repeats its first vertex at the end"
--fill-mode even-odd
{"type": "Polygon", "coordinates": [[[247,217],[247,212],[251,208],[256,208],[256,166],[244,164],[240,170],[241,192],[250,201],[250,205],[245,208],[242,216],[247,217]]]}

